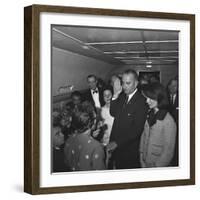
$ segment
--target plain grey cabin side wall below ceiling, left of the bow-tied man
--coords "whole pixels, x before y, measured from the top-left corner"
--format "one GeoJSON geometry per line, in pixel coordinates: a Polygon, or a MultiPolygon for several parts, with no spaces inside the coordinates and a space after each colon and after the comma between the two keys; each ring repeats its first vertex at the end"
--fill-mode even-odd
{"type": "Polygon", "coordinates": [[[89,74],[104,78],[115,68],[100,60],[58,48],[53,48],[52,57],[53,95],[56,95],[59,87],[66,85],[74,85],[74,90],[86,89],[89,74]]]}

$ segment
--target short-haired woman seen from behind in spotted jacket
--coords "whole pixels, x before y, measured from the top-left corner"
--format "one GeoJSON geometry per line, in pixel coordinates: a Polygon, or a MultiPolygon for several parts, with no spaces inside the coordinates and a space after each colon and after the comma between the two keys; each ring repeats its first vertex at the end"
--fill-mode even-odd
{"type": "Polygon", "coordinates": [[[101,143],[91,136],[95,123],[90,105],[81,105],[72,116],[73,134],[64,147],[65,163],[70,171],[105,169],[105,153],[101,143]]]}

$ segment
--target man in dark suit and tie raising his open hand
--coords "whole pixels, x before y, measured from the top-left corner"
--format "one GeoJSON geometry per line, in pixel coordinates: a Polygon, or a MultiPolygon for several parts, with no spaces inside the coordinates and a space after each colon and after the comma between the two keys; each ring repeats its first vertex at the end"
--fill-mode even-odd
{"type": "Polygon", "coordinates": [[[110,113],[115,119],[107,151],[113,152],[112,160],[117,169],[140,167],[139,144],[147,105],[137,85],[138,76],[134,70],[123,73],[122,88],[119,82],[114,83],[110,113]]]}

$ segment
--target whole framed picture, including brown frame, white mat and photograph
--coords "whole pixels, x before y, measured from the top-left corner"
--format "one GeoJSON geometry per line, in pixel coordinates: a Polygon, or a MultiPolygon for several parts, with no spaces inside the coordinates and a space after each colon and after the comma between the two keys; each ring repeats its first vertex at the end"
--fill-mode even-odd
{"type": "Polygon", "coordinates": [[[194,184],[194,15],[25,11],[25,190],[194,184]]]}

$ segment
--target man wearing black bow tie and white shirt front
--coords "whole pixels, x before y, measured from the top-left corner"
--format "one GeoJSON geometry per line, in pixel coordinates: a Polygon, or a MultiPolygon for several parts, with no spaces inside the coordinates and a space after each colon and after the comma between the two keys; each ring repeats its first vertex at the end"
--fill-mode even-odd
{"type": "Polygon", "coordinates": [[[84,99],[90,101],[95,108],[101,108],[104,105],[103,90],[97,87],[97,77],[91,74],[87,77],[87,82],[89,89],[86,91],[84,99]]]}

